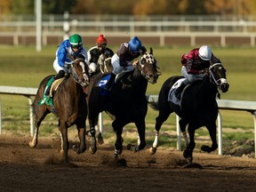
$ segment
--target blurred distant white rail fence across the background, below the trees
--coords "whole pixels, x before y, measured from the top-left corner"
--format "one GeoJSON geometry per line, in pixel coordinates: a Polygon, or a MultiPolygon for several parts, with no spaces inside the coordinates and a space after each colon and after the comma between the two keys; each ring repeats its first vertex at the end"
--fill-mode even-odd
{"type": "MultiPolygon", "coordinates": [[[[35,20],[35,15],[25,16],[1,18],[0,44],[36,44],[38,22],[35,20]]],[[[68,23],[69,34],[79,33],[86,38],[86,44],[95,44],[95,37],[104,33],[111,44],[120,44],[124,39],[140,36],[144,44],[160,46],[173,44],[195,46],[203,42],[221,46],[246,44],[255,47],[256,45],[254,17],[221,18],[214,15],[157,17],[70,15],[68,21],[64,20],[63,15],[43,15],[43,45],[60,44],[65,35],[64,23],[68,23]]]]}

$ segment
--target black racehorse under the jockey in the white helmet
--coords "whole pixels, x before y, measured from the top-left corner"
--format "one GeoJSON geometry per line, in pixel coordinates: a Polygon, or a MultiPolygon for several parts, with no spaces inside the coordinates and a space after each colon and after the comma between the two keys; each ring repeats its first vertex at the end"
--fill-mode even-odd
{"type": "MultiPolygon", "coordinates": [[[[156,137],[150,153],[155,154],[158,146],[158,136],[162,124],[167,120],[172,112],[180,116],[180,131],[185,139],[186,148],[183,156],[192,163],[193,149],[196,146],[195,132],[201,126],[206,126],[210,137],[212,139],[212,147],[202,146],[204,152],[212,152],[218,148],[216,140],[216,119],[218,116],[218,104],[216,102],[216,95],[220,98],[221,92],[228,92],[228,81],[226,78],[226,69],[221,63],[215,63],[208,68],[208,72],[203,80],[198,80],[193,84],[188,85],[181,94],[180,105],[179,102],[169,100],[169,94],[172,90],[172,85],[177,84],[178,80],[183,76],[172,76],[168,78],[162,85],[161,91],[158,95],[158,102],[153,108],[159,109],[156,117],[156,137]],[[170,91],[171,90],[171,91],[170,91]],[[188,125],[189,142],[186,133],[186,126],[188,125]]],[[[173,95],[173,94],[172,94],[173,95]]]]}

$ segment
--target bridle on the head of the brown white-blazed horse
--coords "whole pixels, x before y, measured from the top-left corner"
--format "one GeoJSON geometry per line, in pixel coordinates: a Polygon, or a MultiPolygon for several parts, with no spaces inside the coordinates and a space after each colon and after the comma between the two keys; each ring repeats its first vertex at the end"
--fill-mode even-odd
{"type": "Polygon", "coordinates": [[[71,62],[66,62],[66,64],[70,65],[70,74],[74,77],[74,80],[76,81],[77,84],[80,84],[81,86],[87,86],[89,84],[89,76],[86,74],[86,70],[85,70],[85,63],[84,63],[84,59],[82,58],[78,58],[76,60],[72,60],[71,62]],[[79,62],[79,65],[81,66],[82,70],[83,70],[83,79],[79,79],[79,76],[76,73],[76,69],[74,68],[74,63],[77,60],[81,60],[79,62]]]}

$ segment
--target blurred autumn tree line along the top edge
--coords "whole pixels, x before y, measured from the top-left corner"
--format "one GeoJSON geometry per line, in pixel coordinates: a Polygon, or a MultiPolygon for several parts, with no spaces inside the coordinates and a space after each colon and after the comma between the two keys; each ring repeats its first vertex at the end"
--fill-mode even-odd
{"type": "MultiPolygon", "coordinates": [[[[35,0],[1,0],[0,14],[33,14],[35,0]]],[[[42,0],[43,14],[252,15],[255,0],[42,0]]]]}

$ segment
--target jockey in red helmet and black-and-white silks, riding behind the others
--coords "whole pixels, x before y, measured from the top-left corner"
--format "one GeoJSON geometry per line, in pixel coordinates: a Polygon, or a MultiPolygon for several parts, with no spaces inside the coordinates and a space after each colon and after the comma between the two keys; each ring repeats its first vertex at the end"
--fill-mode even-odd
{"type": "Polygon", "coordinates": [[[106,54],[112,57],[114,52],[107,47],[107,39],[102,34],[96,39],[96,46],[93,46],[88,52],[89,72],[96,72],[97,63],[101,54],[106,54]]]}

